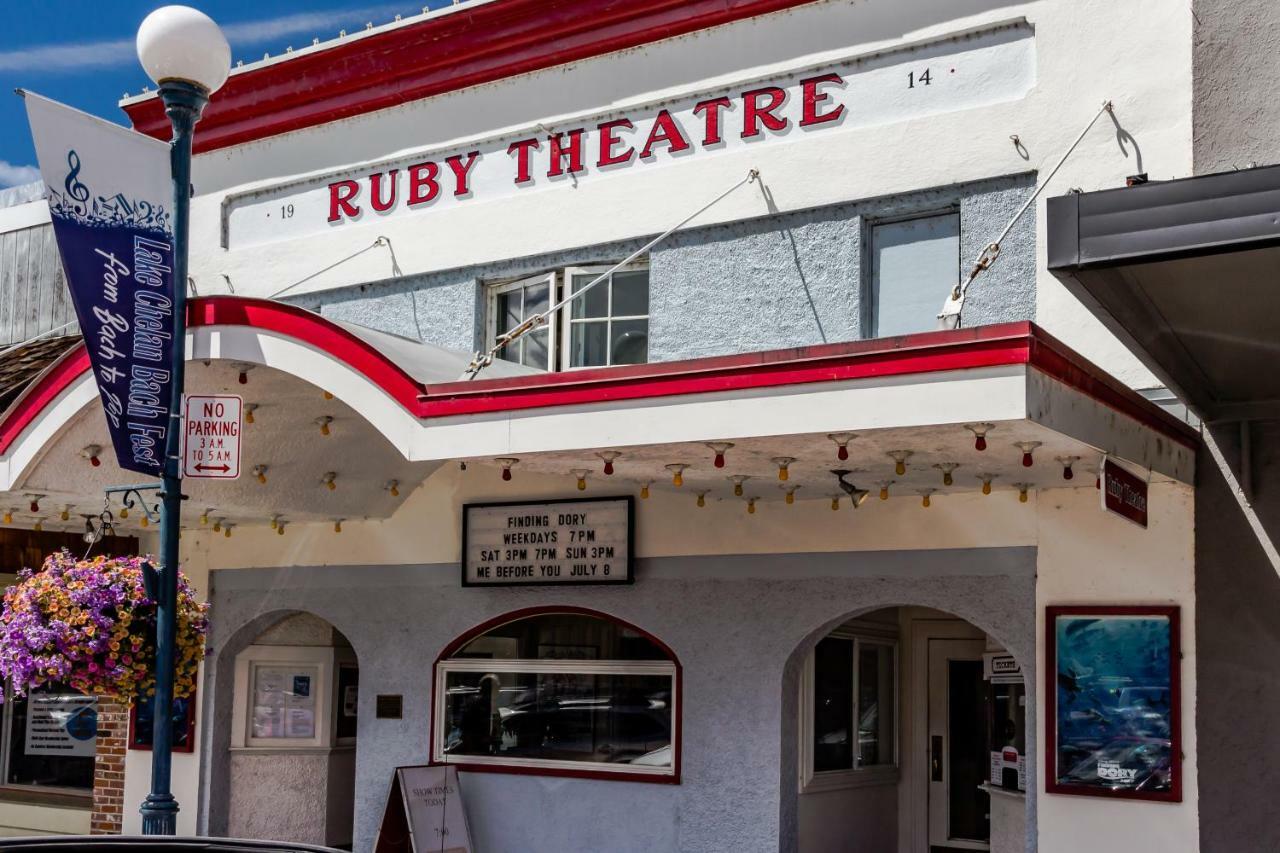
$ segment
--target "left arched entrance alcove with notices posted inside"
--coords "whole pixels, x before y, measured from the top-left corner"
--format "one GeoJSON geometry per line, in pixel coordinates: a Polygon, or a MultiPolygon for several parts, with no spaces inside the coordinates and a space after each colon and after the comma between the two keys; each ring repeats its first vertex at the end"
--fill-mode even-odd
{"type": "Polygon", "coordinates": [[[360,666],[330,622],[273,613],[219,654],[211,834],[348,848],[353,839],[360,666]],[[219,722],[221,724],[219,726],[219,722]]]}

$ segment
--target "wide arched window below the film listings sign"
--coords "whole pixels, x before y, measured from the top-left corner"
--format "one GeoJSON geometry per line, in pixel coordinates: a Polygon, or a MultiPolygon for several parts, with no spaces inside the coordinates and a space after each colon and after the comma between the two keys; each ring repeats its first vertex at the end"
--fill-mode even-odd
{"type": "Polygon", "coordinates": [[[435,665],[431,757],[468,770],[676,781],[680,663],[662,642],[581,608],[522,611],[435,665]]]}

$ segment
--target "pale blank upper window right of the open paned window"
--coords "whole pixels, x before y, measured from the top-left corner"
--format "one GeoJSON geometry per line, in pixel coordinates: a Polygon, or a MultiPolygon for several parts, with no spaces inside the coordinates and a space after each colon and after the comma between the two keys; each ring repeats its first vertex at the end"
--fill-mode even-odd
{"type": "Polygon", "coordinates": [[[877,223],[870,257],[872,337],[932,332],[960,280],[960,214],[877,223]]]}

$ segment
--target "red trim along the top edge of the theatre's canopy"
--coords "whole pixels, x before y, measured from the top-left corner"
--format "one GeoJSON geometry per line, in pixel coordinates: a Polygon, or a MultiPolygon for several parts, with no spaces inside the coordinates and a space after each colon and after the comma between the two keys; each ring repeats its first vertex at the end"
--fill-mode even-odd
{"type": "MultiPolygon", "coordinates": [[[[292,305],[236,296],[201,297],[188,304],[188,324],[243,325],[291,337],[357,370],[421,419],[1027,364],[1179,444],[1194,450],[1199,441],[1189,425],[1032,323],[431,386],[419,383],[346,328],[292,305]]],[[[81,346],[40,377],[0,420],[0,453],[8,452],[40,412],[88,369],[81,346]]]]}

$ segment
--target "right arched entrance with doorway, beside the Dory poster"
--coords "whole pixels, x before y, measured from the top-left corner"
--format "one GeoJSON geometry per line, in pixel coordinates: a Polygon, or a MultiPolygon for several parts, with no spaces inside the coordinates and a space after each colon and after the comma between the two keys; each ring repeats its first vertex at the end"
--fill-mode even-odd
{"type": "Polygon", "coordinates": [[[809,635],[783,694],[792,849],[1033,849],[1034,676],[1021,666],[1033,642],[916,606],[809,635]]]}

